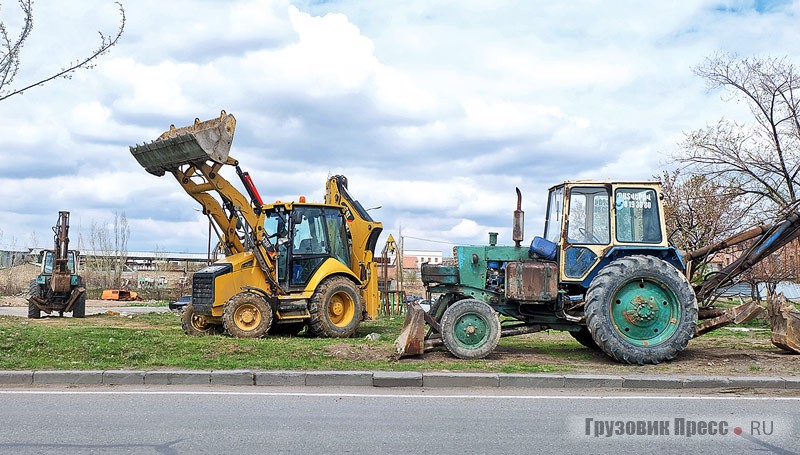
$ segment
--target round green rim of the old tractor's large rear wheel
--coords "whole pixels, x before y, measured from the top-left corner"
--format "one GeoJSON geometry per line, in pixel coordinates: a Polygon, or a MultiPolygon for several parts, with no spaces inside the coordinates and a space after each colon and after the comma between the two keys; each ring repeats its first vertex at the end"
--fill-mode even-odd
{"type": "Polygon", "coordinates": [[[675,293],[656,281],[630,281],[611,301],[614,329],[636,346],[657,346],[667,341],[678,330],[681,317],[675,293]]]}

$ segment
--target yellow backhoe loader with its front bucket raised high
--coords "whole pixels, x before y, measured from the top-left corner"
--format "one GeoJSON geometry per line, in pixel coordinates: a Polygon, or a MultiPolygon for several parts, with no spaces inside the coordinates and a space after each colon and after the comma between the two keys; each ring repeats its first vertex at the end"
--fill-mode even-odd
{"type": "Polygon", "coordinates": [[[378,313],[375,246],[383,225],[333,176],[324,203],[264,204],[250,175],[229,156],[236,119],[170,129],[130,147],[147,172],[172,174],[212,221],[225,258],[196,272],[182,326],[189,335],[258,338],[297,334],[349,337],[378,313]],[[248,197],[220,175],[232,166],[248,197]]]}

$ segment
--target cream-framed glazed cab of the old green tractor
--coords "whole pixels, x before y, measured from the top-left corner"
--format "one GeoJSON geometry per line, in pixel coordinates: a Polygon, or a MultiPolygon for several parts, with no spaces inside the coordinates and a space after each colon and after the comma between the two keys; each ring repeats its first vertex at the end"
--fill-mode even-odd
{"type": "Polygon", "coordinates": [[[666,248],[660,194],[658,182],[575,181],[550,188],[543,243],[551,259],[562,258],[561,281],[588,283],[612,250],[666,248]]]}

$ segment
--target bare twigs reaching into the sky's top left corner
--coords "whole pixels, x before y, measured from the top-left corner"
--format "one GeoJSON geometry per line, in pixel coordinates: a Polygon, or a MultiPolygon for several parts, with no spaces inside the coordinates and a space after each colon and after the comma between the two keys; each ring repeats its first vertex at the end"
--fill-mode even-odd
{"type": "MultiPolygon", "coordinates": [[[[20,9],[23,15],[23,25],[19,34],[16,37],[9,35],[8,28],[3,22],[0,22],[0,101],[25,92],[26,90],[50,82],[53,79],[72,77],[72,73],[78,69],[90,69],[95,65],[95,61],[101,55],[109,51],[114,45],[117,44],[122,32],[125,29],[125,9],[122,3],[115,2],[119,7],[120,23],[119,28],[113,35],[105,35],[103,32],[98,31],[100,34],[100,45],[92,51],[88,56],[78,58],[69,63],[66,68],[51,75],[43,77],[42,79],[27,83],[22,88],[13,89],[9,88],[14,78],[17,75],[20,65],[20,55],[25,41],[33,31],[33,0],[18,0],[20,9]]],[[[2,7],[2,4],[0,4],[2,7]]]]}

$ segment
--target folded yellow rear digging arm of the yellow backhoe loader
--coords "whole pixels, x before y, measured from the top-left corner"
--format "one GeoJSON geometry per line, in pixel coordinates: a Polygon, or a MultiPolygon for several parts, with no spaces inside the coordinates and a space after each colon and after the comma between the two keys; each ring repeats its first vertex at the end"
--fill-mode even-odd
{"type": "Polygon", "coordinates": [[[334,175],[325,184],[325,203],[346,209],[347,226],[352,241],[351,262],[353,272],[361,279],[361,296],[367,314],[378,315],[378,273],[375,264],[375,247],[383,231],[383,223],[375,221],[361,204],[347,191],[347,177],[334,175]]]}

